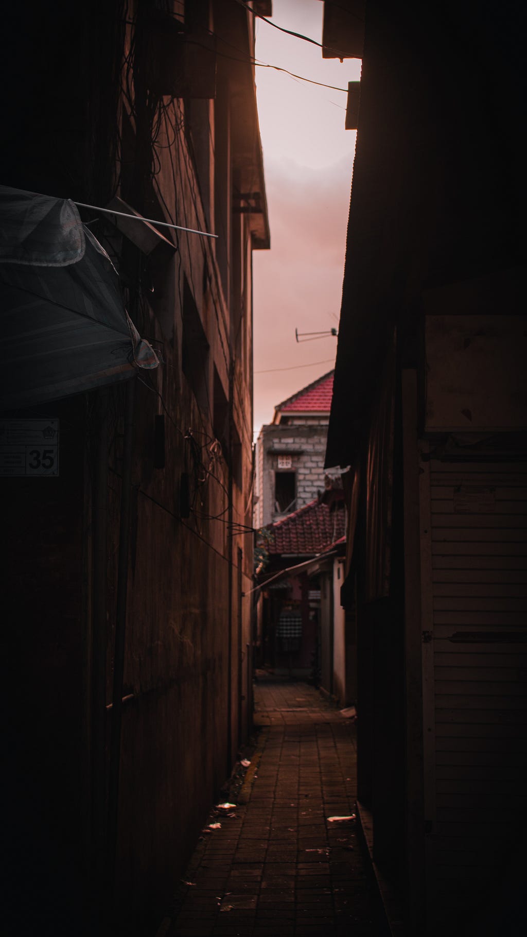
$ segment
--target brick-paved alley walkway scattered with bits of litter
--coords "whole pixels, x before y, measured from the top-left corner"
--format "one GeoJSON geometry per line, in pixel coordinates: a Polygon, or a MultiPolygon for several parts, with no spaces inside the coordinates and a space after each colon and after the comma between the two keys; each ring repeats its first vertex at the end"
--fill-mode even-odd
{"type": "Polygon", "coordinates": [[[355,727],[305,683],[260,676],[235,810],[203,836],[166,937],[381,937],[353,820],[355,727]]]}

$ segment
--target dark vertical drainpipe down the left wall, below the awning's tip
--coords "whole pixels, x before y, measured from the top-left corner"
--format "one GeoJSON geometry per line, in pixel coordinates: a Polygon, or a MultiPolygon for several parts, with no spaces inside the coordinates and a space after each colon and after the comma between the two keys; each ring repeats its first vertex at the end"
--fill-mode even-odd
{"type": "Polygon", "coordinates": [[[111,703],[110,779],[108,795],[107,887],[110,914],[113,910],[115,858],[117,852],[119,811],[119,767],[121,760],[121,726],[123,712],[124,633],[126,626],[126,594],[128,587],[128,543],[130,533],[130,494],[136,378],[126,383],[124,401],[123,481],[121,484],[121,519],[117,567],[117,609],[115,615],[115,646],[113,651],[113,693],[111,703]]]}

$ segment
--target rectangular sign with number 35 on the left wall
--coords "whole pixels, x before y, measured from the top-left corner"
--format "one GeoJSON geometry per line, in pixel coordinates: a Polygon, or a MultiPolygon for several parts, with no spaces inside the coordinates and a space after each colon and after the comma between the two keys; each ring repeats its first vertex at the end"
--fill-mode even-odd
{"type": "Polygon", "coordinates": [[[0,420],[0,475],[58,475],[59,421],[0,420]]]}

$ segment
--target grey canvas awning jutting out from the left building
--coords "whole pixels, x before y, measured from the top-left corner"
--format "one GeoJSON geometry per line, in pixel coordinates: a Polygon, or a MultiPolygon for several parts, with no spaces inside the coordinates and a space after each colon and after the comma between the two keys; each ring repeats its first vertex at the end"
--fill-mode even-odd
{"type": "Polygon", "coordinates": [[[159,362],[72,201],[0,186],[2,409],[126,380],[159,362]]]}

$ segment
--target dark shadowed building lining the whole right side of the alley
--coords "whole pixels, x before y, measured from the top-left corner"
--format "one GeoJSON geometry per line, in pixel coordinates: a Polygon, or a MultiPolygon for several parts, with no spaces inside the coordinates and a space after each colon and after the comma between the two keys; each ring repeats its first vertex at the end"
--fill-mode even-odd
{"type": "Polygon", "coordinates": [[[339,11],[362,77],[327,452],[351,466],[359,817],[393,932],[520,934],[524,11],[361,6],[339,11]]]}

